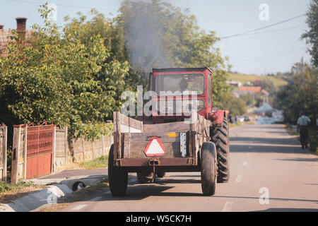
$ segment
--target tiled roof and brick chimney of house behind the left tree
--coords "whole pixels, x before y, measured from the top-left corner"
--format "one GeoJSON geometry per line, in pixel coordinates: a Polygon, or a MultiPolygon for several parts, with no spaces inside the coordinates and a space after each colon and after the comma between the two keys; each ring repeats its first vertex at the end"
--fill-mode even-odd
{"type": "MultiPolygon", "coordinates": [[[[16,18],[16,32],[22,37],[30,39],[33,30],[26,30],[26,20],[24,17],[16,18]]],[[[10,40],[10,36],[13,35],[11,29],[4,29],[4,25],[0,25],[0,56],[7,57],[6,44],[10,40]]]]}

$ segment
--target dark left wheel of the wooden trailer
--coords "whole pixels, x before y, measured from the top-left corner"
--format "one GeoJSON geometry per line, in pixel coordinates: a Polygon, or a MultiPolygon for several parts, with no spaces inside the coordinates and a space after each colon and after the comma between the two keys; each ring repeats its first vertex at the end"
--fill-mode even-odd
{"type": "Polygon", "coordinates": [[[110,147],[108,155],[108,182],[112,196],[124,196],[128,184],[128,172],[122,167],[114,166],[114,145],[110,147]]]}

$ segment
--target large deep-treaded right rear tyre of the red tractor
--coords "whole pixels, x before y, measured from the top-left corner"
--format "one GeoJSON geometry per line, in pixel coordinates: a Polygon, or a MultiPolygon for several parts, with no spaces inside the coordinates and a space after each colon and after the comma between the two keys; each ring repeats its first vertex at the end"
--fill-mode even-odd
{"type": "Polygon", "coordinates": [[[218,160],[218,183],[227,183],[230,178],[230,148],[228,119],[224,117],[220,127],[211,129],[211,141],[216,145],[218,160]]]}

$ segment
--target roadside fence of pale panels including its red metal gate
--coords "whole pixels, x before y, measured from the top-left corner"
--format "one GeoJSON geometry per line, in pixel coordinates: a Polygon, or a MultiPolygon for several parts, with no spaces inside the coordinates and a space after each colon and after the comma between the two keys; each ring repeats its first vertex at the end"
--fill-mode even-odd
{"type": "Polygon", "coordinates": [[[108,155],[113,142],[112,135],[101,135],[95,141],[68,138],[67,127],[59,128],[55,125],[13,126],[11,182],[50,174],[63,169],[68,163],[108,155]]]}

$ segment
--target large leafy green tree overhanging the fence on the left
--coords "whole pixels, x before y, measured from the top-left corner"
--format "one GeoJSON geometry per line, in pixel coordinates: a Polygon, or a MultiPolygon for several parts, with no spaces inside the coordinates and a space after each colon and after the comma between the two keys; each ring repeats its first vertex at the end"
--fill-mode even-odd
{"type": "Polygon", "coordinates": [[[33,25],[31,40],[13,35],[8,57],[0,60],[0,118],[7,124],[54,122],[68,125],[73,136],[95,138],[107,130],[128,63],[110,60],[99,35],[84,44],[76,28],[59,31],[47,19],[47,4],[40,13],[45,26],[33,25]]]}

